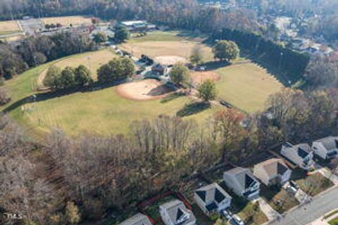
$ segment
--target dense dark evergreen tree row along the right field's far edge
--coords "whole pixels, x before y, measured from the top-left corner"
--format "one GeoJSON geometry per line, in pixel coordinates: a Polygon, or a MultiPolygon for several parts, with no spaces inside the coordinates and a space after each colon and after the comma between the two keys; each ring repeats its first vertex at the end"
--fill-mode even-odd
{"type": "MultiPolygon", "coordinates": [[[[303,78],[309,58],[305,54],[284,48],[273,41],[264,39],[261,35],[238,30],[223,29],[214,32],[212,39],[227,39],[236,42],[249,54],[258,57],[276,70],[286,73],[292,83],[303,78]]],[[[285,81],[285,82],[289,82],[285,81]]]]}

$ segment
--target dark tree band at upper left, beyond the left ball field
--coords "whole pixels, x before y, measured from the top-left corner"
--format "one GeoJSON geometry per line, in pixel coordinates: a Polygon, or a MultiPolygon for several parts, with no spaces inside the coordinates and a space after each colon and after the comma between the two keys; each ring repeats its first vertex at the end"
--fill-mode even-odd
{"type": "Polygon", "coordinates": [[[0,77],[10,79],[42,63],[93,49],[88,35],[70,32],[28,37],[15,47],[0,43],[0,77]]]}

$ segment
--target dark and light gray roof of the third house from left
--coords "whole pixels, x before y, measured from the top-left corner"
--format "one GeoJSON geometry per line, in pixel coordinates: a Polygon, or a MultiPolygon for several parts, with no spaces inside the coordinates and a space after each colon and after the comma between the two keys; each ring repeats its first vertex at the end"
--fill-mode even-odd
{"type": "Polygon", "coordinates": [[[231,198],[231,196],[216,183],[201,187],[195,192],[206,204],[213,202],[221,203],[225,198],[231,198]]]}

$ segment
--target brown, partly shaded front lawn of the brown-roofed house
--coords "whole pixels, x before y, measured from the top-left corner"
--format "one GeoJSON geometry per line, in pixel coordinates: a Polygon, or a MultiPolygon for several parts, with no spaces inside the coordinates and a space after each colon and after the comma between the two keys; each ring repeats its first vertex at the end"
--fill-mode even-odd
{"type": "Polygon", "coordinates": [[[280,188],[268,188],[267,186],[261,185],[261,196],[280,214],[299,205],[299,201],[294,198],[293,195],[290,195],[287,191],[280,188]]]}

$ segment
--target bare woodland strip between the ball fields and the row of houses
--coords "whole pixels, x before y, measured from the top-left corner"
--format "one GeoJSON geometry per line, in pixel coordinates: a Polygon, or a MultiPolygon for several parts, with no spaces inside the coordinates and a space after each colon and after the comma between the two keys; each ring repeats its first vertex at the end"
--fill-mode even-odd
{"type": "Polygon", "coordinates": [[[225,160],[242,165],[276,143],[334,134],[337,105],[325,91],[283,89],[267,108],[246,120],[220,110],[207,127],[161,115],[132,122],[127,136],[70,138],[56,130],[39,143],[1,116],[0,208],[20,212],[27,223],[98,221],[158,191],[180,191],[189,176],[225,160]]]}

